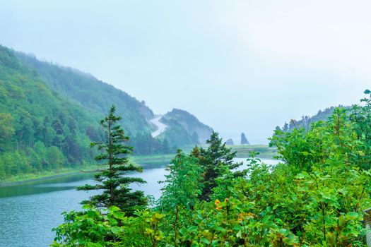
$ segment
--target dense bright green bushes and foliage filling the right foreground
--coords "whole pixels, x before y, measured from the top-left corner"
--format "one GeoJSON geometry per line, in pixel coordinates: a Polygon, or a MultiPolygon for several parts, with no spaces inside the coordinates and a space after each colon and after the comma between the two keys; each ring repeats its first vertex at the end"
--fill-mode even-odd
{"type": "Polygon", "coordinates": [[[283,162],[273,167],[252,153],[245,169],[229,169],[232,153],[213,133],[209,149],[178,152],[156,207],[135,217],[117,207],[66,213],[54,246],[365,246],[371,99],[362,101],[310,129],[277,130],[271,145],[283,162]]]}

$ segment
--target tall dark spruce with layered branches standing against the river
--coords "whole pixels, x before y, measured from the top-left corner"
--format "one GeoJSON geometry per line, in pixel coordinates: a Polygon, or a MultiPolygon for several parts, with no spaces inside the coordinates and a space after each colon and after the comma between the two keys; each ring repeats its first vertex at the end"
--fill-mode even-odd
{"type": "Polygon", "coordinates": [[[121,208],[126,215],[134,215],[134,211],[146,205],[146,197],[143,191],[131,191],[130,183],[146,183],[143,179],[123,176],[128,171],[142,171],[141,167],[129,164],[127,155],[133,147],[124,145],[129,140],[118,121],[122,119],[115,116],[115,107],[112,105],[110,112],[100,121],[105,130],[105,140],[99,143],[91,143],[90,147],[98,147],[100,155],[96,160],[102,161],[106,169],[95,174],[96,185],[86,184],[78,187],[81,191],[100,190],[102,193],[93,195],[90,200],[83,201],[95,207],[110,207],[112,205],[121,208]]]}

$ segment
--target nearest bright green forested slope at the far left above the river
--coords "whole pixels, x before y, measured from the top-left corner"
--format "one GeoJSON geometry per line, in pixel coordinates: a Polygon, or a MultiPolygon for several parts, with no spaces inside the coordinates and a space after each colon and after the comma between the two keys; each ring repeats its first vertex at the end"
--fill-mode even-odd
{"type": "Polygon", "coordinates": [[[0,47],[0,123],[0,180],[81,164],[92,155],[86,131],[98,127],[5,47],[0,47]]]}

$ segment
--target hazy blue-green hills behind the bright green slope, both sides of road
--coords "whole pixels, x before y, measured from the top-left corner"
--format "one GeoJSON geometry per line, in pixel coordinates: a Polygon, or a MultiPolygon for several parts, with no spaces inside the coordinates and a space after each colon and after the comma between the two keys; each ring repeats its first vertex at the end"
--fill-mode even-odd
{"type": "MultiPolygon", "coordinates": [[[[204,129],[209,128],[188,112],[173,110],[165,115],[170,128],[165,130],[160,138],[153,138],[151,132],[154,129],[148,120],[152,119],[154,115],[143,101],[139,102],[126,92],[118,90],[88,73],[40,61],[35,56],[20,52],[17,52],[16,56],[35,68],[49,88],[64,96],[66,100],[75,102],[86,109],[95,119],[87,132],[92,139],[96,139],[95,135],[100,131],[97,130],[98,127],[95,123],[105,116],[106,109],[109,109],[112,104],[117,106],[117,114],[122,116],[122,126],[131,136],[131,145],[135,147],[134,153],[136,155],[175,152],[177,147],[197,144],[200,140],[194,132],[202,133],[204,129]],[[167,116],[169,117],[167,118],[167,116]],[[191,131],[192,129],[194,131],[191,131]]],[[[207,134],[209,135],[210,131],[207,134]]]]}

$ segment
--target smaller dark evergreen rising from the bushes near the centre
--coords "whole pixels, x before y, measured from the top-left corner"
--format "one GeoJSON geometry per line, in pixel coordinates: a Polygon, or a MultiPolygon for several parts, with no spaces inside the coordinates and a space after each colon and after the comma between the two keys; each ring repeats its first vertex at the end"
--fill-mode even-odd
{"type": "MultiPolygon", "coordinates": [[[[207,149],[200,148],[199,164],[204,169],[203,183],[200,199],[209,200],[213,188],[216,187],[216,179],[223,175],[225,168],[235,169],[240,167],[242,163],[233,162],[236,157],[236,152],[232,152],[230,148],[226,147],[223,139],[219,138],[219,134],[215,131],[211,133],[210,139],[206,140],[207,149]]],[[[192,151],[192,156],[196,157],[197,148],[192,151]]]]}

